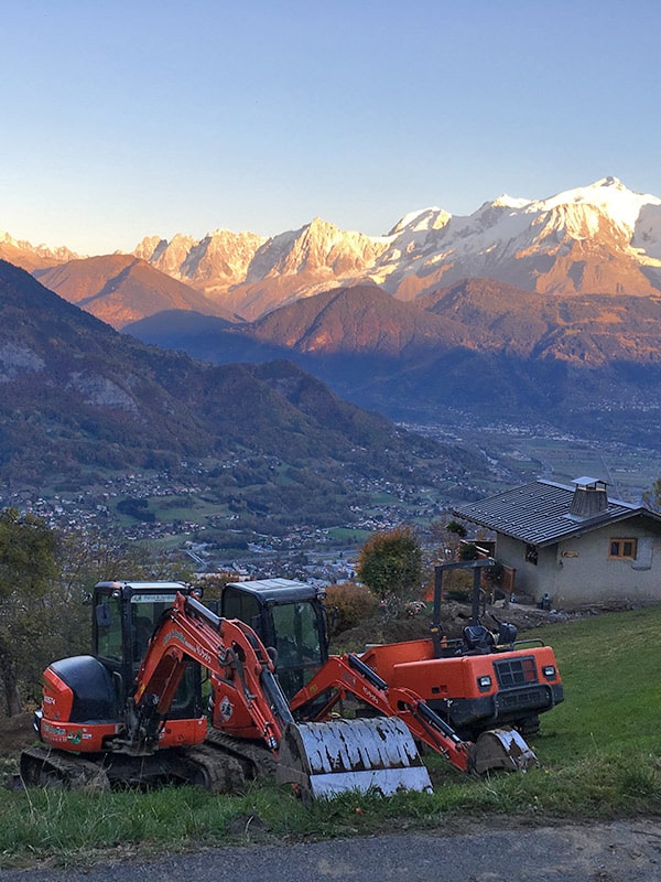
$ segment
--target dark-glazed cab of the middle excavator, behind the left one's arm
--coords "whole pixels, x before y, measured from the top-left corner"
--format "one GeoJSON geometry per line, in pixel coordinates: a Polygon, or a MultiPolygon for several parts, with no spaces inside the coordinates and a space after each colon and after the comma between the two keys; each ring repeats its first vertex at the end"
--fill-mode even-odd
{"type": "Polygon", "coordinates": [[[238,619],[258,634],[288,699],[328,660],[322,598],[313,585],[293,579],[229,582],[223,590],[221,616],[238,619]]]}

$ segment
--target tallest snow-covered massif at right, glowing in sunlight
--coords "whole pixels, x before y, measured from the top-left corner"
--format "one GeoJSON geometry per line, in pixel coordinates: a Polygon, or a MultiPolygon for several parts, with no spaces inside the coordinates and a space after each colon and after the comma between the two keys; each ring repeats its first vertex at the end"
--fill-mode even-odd
{"type": "Polygon", "coordinates": [[[435,209],[409,218],[370,273],[403,300],[475,277],[565,294],[661,287],[661,200],[617,178],[545,200],[500,196],[443,225],[435,209]]]}

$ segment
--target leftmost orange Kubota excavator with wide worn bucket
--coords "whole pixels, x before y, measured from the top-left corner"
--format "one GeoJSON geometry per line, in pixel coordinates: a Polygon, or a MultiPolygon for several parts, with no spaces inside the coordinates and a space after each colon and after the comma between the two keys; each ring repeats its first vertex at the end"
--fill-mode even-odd
{"type": "Polygon", "coordinates": [[[99,583],[94,638],[96,655],[55,662],[44,673],[35,713],[43,745],[21,755],[25,785],[180,781],[236,793],[247,777],[277,772],[313,797],[431,789],[413,739],[393,714],[294,722],[257,634],[217,616],[183,584],[99,583]],[[153,631],[141,636],[160,610],[153,631]],[[281,763],[283,736],[314,750],[296,757],[290,751],[281,763]]]}

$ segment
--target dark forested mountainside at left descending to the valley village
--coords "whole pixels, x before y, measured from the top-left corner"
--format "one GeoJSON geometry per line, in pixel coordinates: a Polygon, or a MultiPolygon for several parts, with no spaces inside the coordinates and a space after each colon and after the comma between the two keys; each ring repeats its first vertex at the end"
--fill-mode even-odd
{"type": "Polygon", "coordinates": [[[232,528],[350,524],[370,482],[466,483],[480,458],[395,427],[291,362],[215,366],[121,334],[0,260],[0,499],[176,475],[232,528]],[[188,466],[186,466],[188,467],[188,466]],[[234,523],[234,521],[237,523],[234,523]]]}

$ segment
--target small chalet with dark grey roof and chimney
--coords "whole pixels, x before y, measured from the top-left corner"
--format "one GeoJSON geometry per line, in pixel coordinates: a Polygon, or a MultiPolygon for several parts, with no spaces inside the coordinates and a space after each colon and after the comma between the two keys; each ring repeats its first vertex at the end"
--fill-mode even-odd
{"type": "Polygon", "coordinates": [[[565,609],[661,601],[661,514],[608,498],[604,481],[534,481],[453,514],[496,534],[514,594],[565,609]]]}

